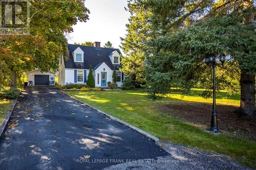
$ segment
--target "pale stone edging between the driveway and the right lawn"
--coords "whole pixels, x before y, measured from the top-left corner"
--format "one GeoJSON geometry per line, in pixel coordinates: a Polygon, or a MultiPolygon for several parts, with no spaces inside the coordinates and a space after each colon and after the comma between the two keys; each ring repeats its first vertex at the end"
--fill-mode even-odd
{"type": "Polygon", "coordinates": [[[110,114],[108,114],[108,113],[102,112],[101,110],[99,110],[99,109],[97,109],[97,108],[95,108],[95,107],[93,107],[93,106],[91,106],[91,105],[89,105],[89,104],[87,104],[87,103],[84,103],[84,102],[82,102],[82,101],[80,101],[80,100],[74,98],[73,96],[71,96],[71,95],[65,93],[65,92],[62,91],[62,90],[60,90],[60,91],[61,91],[63,94],[68,95],[70,98],[72,98],[72,99],[78,101],[79,103],[82,103],[82,104],[86,105],[87,107],[89,107],[89,108],[91,108],[91,109],[93,109],[93,110],[96,110],[96,111],[99,112],[100,114],[103,114],[103,115],[109,117],[110,119],[115,120],[116,122],[118,122],[118,123],[120,123],[120,124],[122,124],[122,125],[124,125],[124,126],[127,126],[127,127],[131,128],[132,130],[135,130],[136,132],[139,132],[140,134],[142,134],[142,135],[144,135],[144,136],[146,136],[146,137],[148,137],[148,138],[154,140],[155,142],[158,142],[158,141],[159,141],[159,139],[158,139],[156,136],[153,136],[153,135],[151,135],[151,134],[149,134],[149,133],[147,133],[147,132],[145,132],[145,131],[143,131],[143,130],[141,130],[141,129],[139,129],[139,128],[136,128],[135,126],[132,126],[132,125],[130,125],[130,124],[127,124],[126,122],[123,122],[123,120],[121,120],[121,119],[119,119],[119,118],[116,118],[116,117],[114,117],[114,116],[112,116],[112,115],[110,115],[110,114]]]}

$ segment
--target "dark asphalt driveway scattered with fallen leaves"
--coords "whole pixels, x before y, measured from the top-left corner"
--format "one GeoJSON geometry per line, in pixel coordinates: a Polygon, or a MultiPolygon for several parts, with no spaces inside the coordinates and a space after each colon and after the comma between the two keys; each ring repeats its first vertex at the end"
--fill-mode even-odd
{"type": "Polygon", "coordinates": [[[50,87],[22,92],[0,140],[1,169],[101,169],[167,155],[154,141],[50,87]]]}

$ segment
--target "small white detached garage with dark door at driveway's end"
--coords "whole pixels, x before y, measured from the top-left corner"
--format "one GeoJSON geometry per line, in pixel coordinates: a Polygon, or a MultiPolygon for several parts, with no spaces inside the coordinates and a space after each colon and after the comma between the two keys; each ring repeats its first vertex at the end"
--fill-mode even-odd
{"type": "Polygon", "coordinates": [[[49,86],[55,84],[55,73],[52,71],[42,72],[36,69],[28,72],[28,85],[49,86]]]}

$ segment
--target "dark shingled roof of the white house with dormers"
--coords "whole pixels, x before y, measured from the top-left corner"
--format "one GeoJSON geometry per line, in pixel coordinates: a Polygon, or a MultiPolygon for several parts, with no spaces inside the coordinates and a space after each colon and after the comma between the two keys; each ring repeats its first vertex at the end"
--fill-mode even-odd
{"type": "MultiPolygon", "coordinates": [[[[117,51],[121,55],[121,52],[118,48],[104,48],[104,47],[94,47],[94,46],[85,46],[85,45],[74,45],[68,44],[69,50],[69,60],[64,60],[65,68],[77,68],[77,69],[90,69],[90,65],[95,68],[100,63],[106,63],[111,69],[121,67],[120,64],[112,64],[109,55],[114,51],[117,51]],[[83,51],[83,63],[74,62],[72,52],[76,50],[77,47],[80,47],[83,51]]],[[[98,65],[98,66],[99,66],[98,65]]],[[[95,68],[96,69],[96,68],[95,68]]]]}

